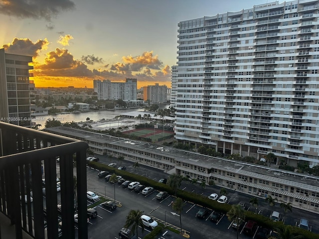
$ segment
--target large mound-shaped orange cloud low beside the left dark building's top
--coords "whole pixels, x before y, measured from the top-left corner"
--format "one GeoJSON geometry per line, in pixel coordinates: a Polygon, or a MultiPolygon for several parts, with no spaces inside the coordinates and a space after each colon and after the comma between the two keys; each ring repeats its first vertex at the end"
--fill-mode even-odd
{"type": "Polygon", "coordinates": [[[61,76],[61,77],[93,77],[91,70],[81,61],[74,60],[67,49],[56,48],[46,54],[44,64],[35,64],[36,76],[61,76]]]}

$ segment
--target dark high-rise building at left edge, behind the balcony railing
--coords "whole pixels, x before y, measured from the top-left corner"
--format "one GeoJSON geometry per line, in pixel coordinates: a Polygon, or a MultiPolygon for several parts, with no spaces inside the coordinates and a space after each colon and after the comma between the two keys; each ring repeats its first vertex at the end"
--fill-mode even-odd
{"type": "Polygon", "coordinates": [[[30,62],[31,56],[8,54],[0,49],[0,121],[31,125],[30,62]]]}

